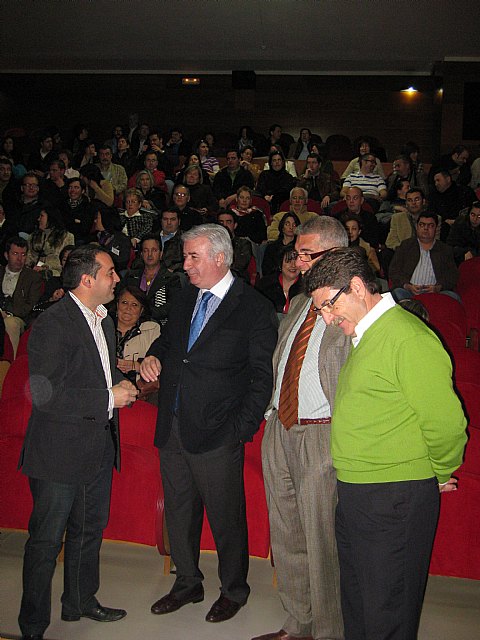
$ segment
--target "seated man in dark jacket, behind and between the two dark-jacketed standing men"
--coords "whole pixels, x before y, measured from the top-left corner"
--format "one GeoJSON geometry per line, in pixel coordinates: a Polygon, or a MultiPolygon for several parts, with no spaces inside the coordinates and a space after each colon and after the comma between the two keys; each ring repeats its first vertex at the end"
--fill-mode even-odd
{"type": "Polygon", "coordinates": [[[130,269],[118,285],[135,286],[147,297],[151,318],[164,325],[167,321],[170,303],[175,293],[182,287],[182,274],[172,273],[162,260],[161,242],[156,236],[143,239],[140,255],[143,264],[137,269],[130,269]]]}

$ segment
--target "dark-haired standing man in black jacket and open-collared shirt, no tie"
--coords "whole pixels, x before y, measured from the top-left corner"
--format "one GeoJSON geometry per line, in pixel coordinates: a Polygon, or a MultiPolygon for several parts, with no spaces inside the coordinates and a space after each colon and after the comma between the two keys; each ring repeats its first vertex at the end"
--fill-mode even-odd
{"type": "Polygon", "coordinates": [[[50,624],[64,534],[62,619],[126,615],[95,597],[112,466],[120,463],[117,409],[137,395],[115,367],[115,333],[103,306],[118,281],[105,251],[76,249],[63,271],[70,294],[41,314],[28,341],[32,414],[19,462],[33,498],[19,615],[24,640],[40,640],[50,624]]]}

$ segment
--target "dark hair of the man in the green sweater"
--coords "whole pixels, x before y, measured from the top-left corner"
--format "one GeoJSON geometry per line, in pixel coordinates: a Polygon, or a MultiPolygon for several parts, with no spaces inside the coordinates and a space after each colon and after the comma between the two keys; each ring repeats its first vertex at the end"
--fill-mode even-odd
{"type": "Polygon", "coordinates": [[[354,276],[362,280],[369,293],[378,293],[375,274],[356,249],[333,249],[325,253],[307,272],[305,291],[310,295],[323,287],[350,287],[354,276]]]}

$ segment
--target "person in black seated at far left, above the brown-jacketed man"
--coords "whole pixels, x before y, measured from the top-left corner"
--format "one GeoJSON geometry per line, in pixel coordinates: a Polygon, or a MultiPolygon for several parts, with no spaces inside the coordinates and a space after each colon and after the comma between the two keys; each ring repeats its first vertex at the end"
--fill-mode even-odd
{"type": "Polygon", "coordinates": [[[15,233],[33,233],[43,205],[40,180],[33,171],[28,171],[22,178],[19,197],[8,206],[5,203],[5,216],[9,228],[14,229],[15,233]]]}

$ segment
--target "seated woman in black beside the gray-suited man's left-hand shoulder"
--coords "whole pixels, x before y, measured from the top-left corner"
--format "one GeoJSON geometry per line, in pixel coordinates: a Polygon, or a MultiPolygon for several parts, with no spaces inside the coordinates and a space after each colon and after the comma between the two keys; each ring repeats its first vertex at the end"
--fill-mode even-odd
{"type": "Polygon", "coordinates": [[[300,268],[292,257],[294,244],[284,246],[278,256],[277,268],[273,273],[264,275],[256,288],[273,302],[277,313],[288,312],[294,296],[302,291],[300,268]]]}

